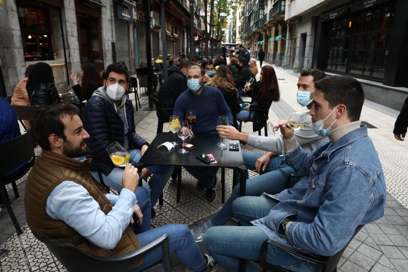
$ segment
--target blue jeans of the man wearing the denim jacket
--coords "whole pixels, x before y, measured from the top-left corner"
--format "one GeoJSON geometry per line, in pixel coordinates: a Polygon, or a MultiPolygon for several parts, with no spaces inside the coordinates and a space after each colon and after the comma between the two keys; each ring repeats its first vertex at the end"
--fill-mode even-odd
{"type": "MultiPolygon", "coordinates": [[[[259,261],[262,243],[269,239],[265,232],[250,221],[268,215],[276,201],[260,196],[239,197],[233,205],[234,214],[243,227],[220,226],[209,228],[203,244],[210,255],[228,271],[238,271],[239,259],[259,261]]],[[[274,240],[291,246],[286,238],[277,234],[274,240]]],[[[291,271],[314,271],[318,266],[298,259],[273,245],[268,246],[267,262],[291,271]]],[[[246,262],[246,271],[258,271],[246,262]]]]}

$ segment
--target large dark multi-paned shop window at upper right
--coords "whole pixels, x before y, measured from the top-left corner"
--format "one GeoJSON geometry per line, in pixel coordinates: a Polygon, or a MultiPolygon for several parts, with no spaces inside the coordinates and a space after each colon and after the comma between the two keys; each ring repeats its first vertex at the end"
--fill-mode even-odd
{"type": "Polygon", "coordinates": [[[395,5],[375,6],[326,22],[326,69],[364,78],[384,78],[395,5]],[[350,56],[350,57],[349,57],[350,56]]]}

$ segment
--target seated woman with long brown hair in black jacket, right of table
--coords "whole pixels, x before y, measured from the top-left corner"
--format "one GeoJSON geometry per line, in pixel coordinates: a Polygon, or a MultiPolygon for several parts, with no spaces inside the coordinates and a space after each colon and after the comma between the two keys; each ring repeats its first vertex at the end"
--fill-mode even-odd
{"type": "Polygon", "coordinates": [[[237,114],[237,120],[251,120],[253,131],[261,130],[272,102],[279,101],[281,96],[273,67],[270,65],[262,67],[260,81],[251,86],[245,86],[245,90],[252,92],[252,100],[237,114]]]}

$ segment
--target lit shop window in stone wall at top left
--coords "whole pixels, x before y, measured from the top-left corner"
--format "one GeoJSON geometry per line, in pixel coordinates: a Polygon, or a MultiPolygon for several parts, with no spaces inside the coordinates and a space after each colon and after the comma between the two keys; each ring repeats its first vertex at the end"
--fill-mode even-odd
{"type": "Polygon", "coordinates": [[[48,9],[19,6],[17,11],[25,61],[54,60],[48,9]]]}

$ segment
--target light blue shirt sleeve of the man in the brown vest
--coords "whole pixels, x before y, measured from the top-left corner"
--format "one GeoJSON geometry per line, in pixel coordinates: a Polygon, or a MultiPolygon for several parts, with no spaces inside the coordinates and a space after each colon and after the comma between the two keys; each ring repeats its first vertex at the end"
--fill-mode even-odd
{"type": "Polygon", "coordinates": [[[46,212],[103,249],[114,249],[129,225],[137,203],[136,195],[122,189],[119,195],[106,194],[114,205],[105,214],[89,192],[73,181],[63,181],[48,195],[46,212]]]}

